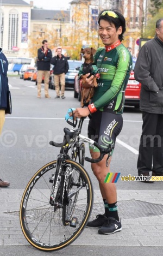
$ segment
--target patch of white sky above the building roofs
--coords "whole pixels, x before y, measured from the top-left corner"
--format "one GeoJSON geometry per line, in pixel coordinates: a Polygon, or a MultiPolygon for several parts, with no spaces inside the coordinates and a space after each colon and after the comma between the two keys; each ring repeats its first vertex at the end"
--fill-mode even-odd
{"type": "MultiPolygon", "coordinates": [[[[30,3],[30,0],[24,0],[30,3]]],[[[67,10],[70,8],[70,3],[72,0],[33,0],[34,6],[40,7],[46,10],[67,10]]]]}

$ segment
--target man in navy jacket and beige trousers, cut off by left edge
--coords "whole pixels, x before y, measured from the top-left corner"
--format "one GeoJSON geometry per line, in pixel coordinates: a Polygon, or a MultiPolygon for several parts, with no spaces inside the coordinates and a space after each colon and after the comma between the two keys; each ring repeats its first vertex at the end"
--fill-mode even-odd
{"type": "MultiPolygon", "coordinates": [[[[0,48],[0,135],[2,133],[3,124],[5,121],[5,109],[7,109],[7,91],[9,90],[8,86],[8,60],[0,48]]],[[[3,169],[1,169],[3,170],[3,169]]],[[[2,181],[0,178],[0,187],[8,187],[10,183],[8,181],[2,181]]]]}

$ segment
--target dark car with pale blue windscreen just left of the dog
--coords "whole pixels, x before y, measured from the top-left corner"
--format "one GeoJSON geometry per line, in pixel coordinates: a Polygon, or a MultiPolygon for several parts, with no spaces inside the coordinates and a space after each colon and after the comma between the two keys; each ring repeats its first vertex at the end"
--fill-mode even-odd
{"type": "Polygon", "coordinates": [[[82,66],[82,64],[83,61],[73,61],[71,59],[68,59],[69,69],[67,74],[65,75],[65,87],[74,88],[75,77],[79,73],[79,68],[82,66]]]}

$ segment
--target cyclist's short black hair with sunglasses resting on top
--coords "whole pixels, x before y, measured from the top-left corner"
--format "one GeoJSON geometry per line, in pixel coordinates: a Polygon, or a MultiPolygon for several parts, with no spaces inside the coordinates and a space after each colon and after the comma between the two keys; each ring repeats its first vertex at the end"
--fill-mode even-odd
{"type": "Polygon", "coordinates": [[[106,20],[110,24],[112,23],[115,25],[116,31],[118,30],[119,27],[122,27],[122,34],[118,35],[118,38],[120,39],[120,41],[122,41],[123,34],[126,31],[126,20],[124,19],[123,15],[114,9],[103,10],[103,11],[101,11],[98,15],[98,25],[101,20],[106,20]],[[109,16],[107,13],[105,15],[102,15],[103,11],[113,11],[118,17],[109,16]]]}

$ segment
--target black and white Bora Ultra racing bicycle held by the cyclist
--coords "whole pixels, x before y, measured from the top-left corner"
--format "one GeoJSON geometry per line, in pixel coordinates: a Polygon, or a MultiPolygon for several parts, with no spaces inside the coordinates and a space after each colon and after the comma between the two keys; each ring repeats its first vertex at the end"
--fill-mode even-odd
{"type": "Polygon", "coordinates": [[[84,157],[80,140],[101,151],[98,159],[86,157],[89,162],[99,162],[105,154],[109,154],[109,159],[111,153],[111,147],[104,149],[80,134],[83,120],[80,118],[80,128],[64,128],[62,143],[49,142],[61,147],[57,160],[36,172],[22,196],[20,224],[23,234],[32,246],[42,251],[57,251],[70,245],[82,233],[91,215],[93,187],[87,171],[80,164],[84,157]],[[68,155],[70,148],[71,157],[68,155]]]}

